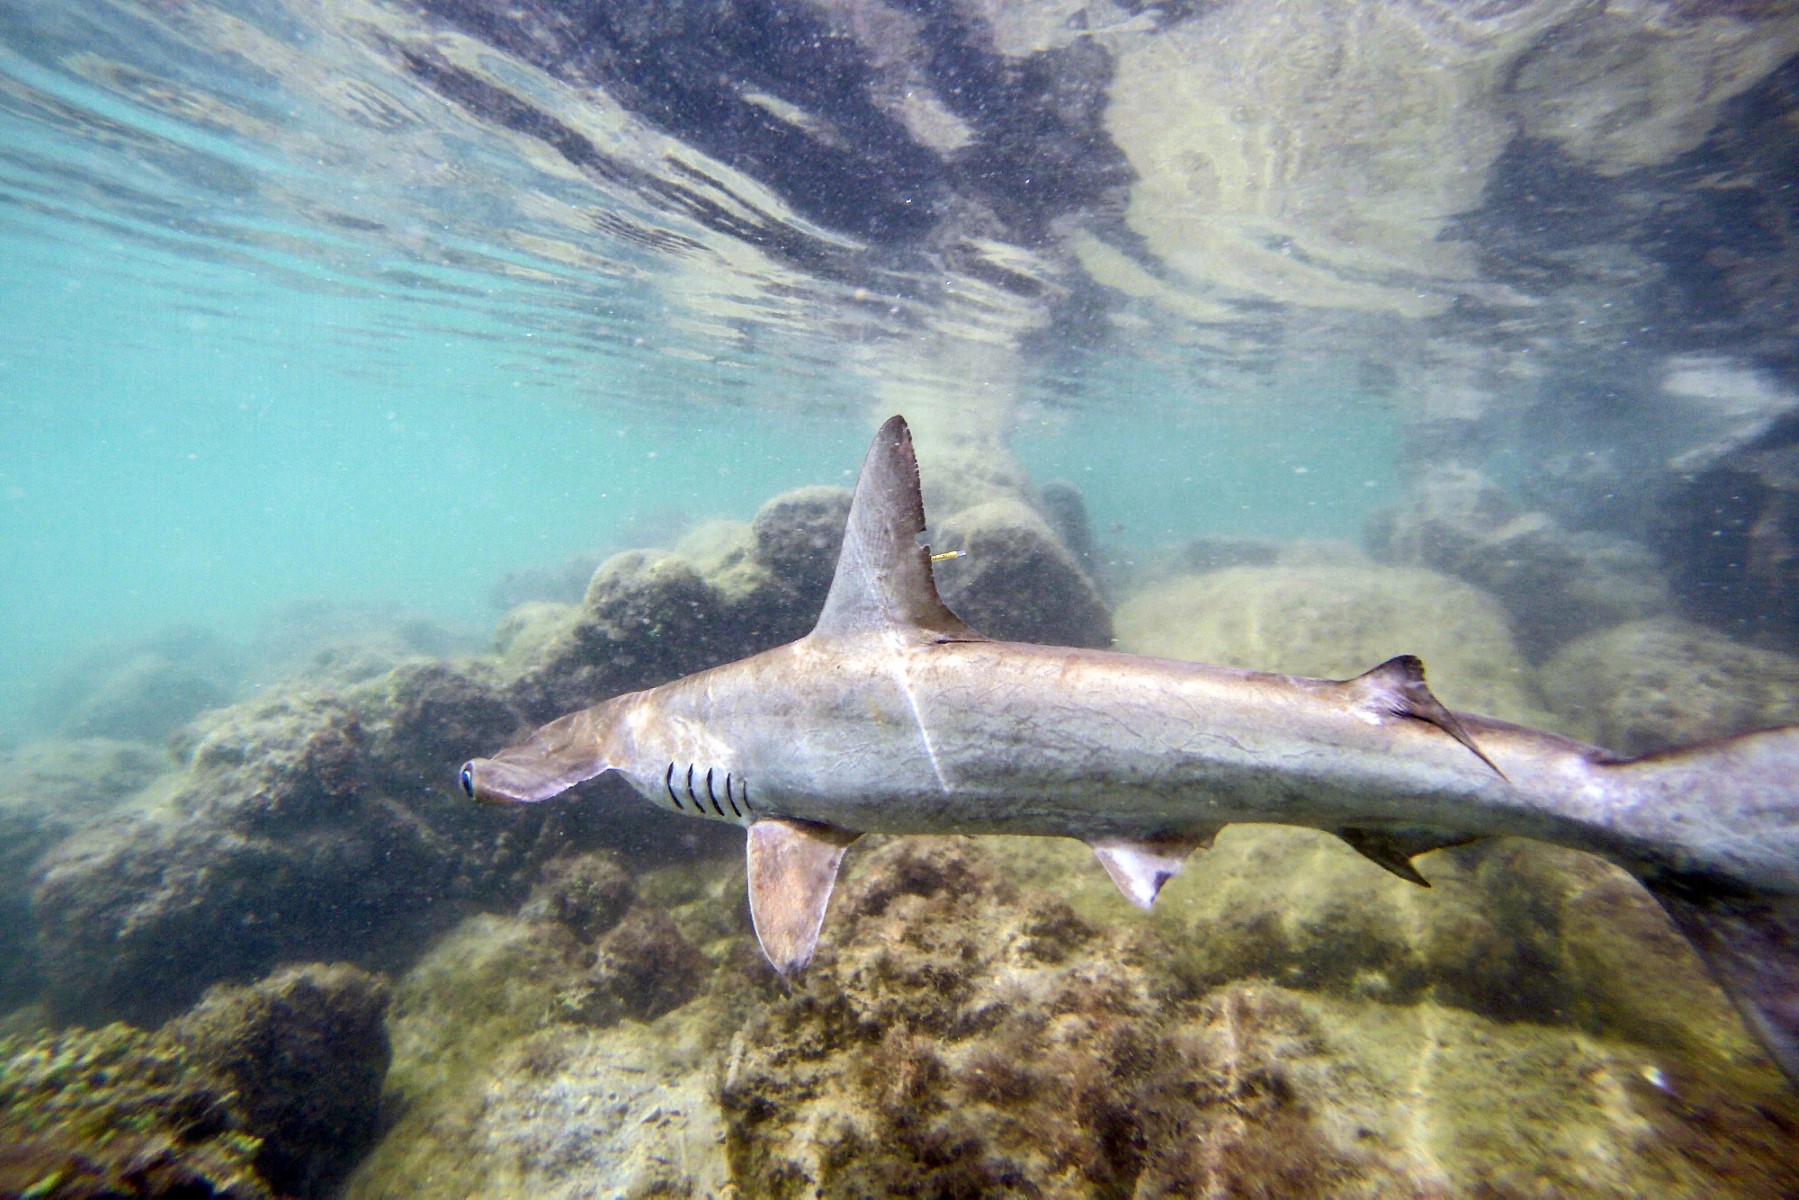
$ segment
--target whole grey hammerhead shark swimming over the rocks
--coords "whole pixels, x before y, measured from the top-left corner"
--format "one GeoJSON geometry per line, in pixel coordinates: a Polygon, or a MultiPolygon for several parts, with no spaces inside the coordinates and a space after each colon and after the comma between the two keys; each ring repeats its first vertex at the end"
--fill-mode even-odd
{"type": "Polygon", "coordinates": [[[473,759],[462,790],[533,802],[613,770],[651,802],[748,829],[768,961],[802,970],[862,833],[1090,844],[1148,909],[1232,822],[1412,856],[1527,837],[1608,858],[1698,948],[1799,1083],[1799,727],[1621,759],[1454,714],[1416,658],[1353,680],[997,642],[937,597],[905,421],[869,448],[804,639],[628,693],[473,759]]]}

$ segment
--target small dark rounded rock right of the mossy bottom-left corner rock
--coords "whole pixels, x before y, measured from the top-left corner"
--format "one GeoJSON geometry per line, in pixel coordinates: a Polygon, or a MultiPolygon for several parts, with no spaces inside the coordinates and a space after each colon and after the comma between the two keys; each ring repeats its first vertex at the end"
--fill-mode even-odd
{"type": "Polygon", "coordinates": [[[214,988],[162,1033],[232,1088],[252,1162],[282,1196],[335,1193],[374,1141],[390,1049],[387,984],[342,963],[214,988]]]}

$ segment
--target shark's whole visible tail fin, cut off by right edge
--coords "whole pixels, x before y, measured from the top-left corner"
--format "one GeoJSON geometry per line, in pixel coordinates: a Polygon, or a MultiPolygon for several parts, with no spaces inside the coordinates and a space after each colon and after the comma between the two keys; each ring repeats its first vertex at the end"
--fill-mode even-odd
{"type": "Polygon", "coordinates": [[[1608,763],[1657,860],[1626,867],[1799,1085],[1799,725],[1608,763]]]}

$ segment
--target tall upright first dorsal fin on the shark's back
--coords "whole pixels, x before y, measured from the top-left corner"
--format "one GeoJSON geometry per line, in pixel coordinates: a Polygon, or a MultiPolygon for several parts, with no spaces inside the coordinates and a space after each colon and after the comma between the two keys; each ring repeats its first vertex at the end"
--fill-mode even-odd
{"type": "Polygon", "coordinates": [[[925,500],[917,489],[912,430],[905,417],[889,417],[862,461],[844,551],[813,635],[916,626],[955,639],[979,637],[937,596],[930,551],[917,542],[921,533],[925,500]]]}

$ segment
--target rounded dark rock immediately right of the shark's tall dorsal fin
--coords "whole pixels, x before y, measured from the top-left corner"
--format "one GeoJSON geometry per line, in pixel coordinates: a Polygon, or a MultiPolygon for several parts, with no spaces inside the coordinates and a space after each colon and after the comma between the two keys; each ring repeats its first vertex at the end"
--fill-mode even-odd
{"type": "Polygon", "coordinates": [[[961,552],[939,563],[937,588],[975,631],[1051,646],[1112,644],[1112,615],[1099,588],[1022,500],[966,507],[932,536],[937,551],[961,552]]]}

